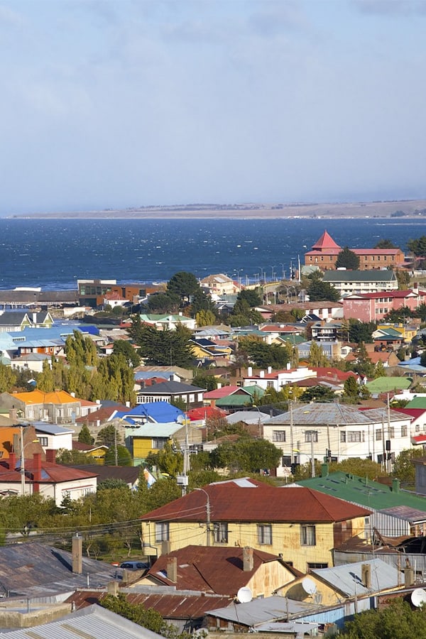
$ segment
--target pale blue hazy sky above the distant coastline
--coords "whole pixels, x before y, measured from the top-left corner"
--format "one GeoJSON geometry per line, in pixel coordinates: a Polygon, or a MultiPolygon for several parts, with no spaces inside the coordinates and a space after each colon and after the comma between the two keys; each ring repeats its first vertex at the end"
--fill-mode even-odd
{"type": "Polygon", "coordinates": [[[426,0],[0,0],[0,216],[426,197],[426,0]]]}

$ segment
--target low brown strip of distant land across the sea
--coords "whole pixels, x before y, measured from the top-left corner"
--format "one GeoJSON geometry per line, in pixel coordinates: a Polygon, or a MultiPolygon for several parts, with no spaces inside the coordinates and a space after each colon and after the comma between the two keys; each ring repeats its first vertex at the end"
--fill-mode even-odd
{"type": "Polygon", "coordinates": [[[426,200],[291,204],[176,204],[100,211],[31,213],[7,219],[351,219],[426,217],[426,200]]]}

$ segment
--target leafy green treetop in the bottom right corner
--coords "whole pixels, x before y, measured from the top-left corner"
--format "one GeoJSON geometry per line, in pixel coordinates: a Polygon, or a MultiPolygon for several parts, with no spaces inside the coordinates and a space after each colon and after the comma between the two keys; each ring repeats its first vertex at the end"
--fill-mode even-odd
{"type": "Polygon", "coordinates": [[[392,599],[383,610],[355,615],[353,621],[345,623],[343,633],[339,633],[340,639],[407,639],[413,636],[426,637],[424,606],[412,610],[402,598],[392,599]]]}

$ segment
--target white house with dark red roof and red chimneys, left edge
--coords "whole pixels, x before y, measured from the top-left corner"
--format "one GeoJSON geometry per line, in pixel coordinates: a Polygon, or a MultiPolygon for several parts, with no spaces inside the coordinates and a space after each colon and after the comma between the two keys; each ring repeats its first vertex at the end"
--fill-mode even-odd
{"type": "MultiPolygon", "coordinates": [[[[87,472],[71,466],[55,463],[56,451],[46,451],[46,461],[40,453],[33,459],[26,459],[24,464],[24,493],[32,495],[40,493],[43,497],[55,500],[60,506],[64,497],[80,499],[88,493],[97,491],[97,473],[87,472]]],[[[9,459],[0,461],[0,494],[22,495],[21,463],[15,453],[9,453],[9,459]]]]}

